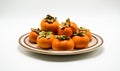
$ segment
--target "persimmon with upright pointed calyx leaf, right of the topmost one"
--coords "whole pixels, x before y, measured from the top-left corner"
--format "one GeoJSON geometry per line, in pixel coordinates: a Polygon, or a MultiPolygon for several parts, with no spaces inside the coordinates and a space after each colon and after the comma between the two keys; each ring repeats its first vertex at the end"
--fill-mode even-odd
{"type": "Polygon", "coordinates": [[[70,20],[67,19],[66,22],[62,22],[58,29],[58,35],[71,36],[73,33],[72,28],[70,27],[70,20]]]}

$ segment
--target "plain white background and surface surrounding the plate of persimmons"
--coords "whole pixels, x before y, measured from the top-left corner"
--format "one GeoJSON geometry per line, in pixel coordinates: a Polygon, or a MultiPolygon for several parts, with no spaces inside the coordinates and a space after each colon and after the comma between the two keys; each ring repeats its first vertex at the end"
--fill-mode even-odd
{"type": "Polygon", "coordinates": [[[120,71],[120,0],[0,0],[0,71],[120,71]],[[104,39],[97,51],[48,56],[21,49],[18,39],[47,15],[70,18],[104,39]]]}

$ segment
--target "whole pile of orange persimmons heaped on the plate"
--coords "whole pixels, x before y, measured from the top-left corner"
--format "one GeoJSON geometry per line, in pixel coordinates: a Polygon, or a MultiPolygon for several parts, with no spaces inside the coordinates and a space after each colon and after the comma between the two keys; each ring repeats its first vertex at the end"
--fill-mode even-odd
{"type": "Polygon", "coordinates": [[[69,18],[60,24],[56,17],[47,15],[40,28],[31,29],[29,41],[39,48],[64,51],[87,48],[91,36],[89,29],[78,27],[69,18]]]}

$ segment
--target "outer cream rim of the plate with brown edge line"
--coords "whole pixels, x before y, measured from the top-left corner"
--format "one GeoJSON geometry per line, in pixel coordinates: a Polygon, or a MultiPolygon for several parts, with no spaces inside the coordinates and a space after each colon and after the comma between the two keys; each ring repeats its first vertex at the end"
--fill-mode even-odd
{"type": "MultiPolygon", "coordinates": [[[[74,50],[74,51],[46,51],[46,50],[39,50],[39,49],[36,49],[36,48],[32,48],[29,46],[25,46],[24,44],[22,44],[21,40],[24,36],[28,36],[29,33],[26,33],[26,34],[23,34],[19,37],[19,44],[24,47],[25,49],[29,50],[29,51],[32,51],[32,52],[35,52],[35,53],[41,53],[41,54],[47,54],[47,55],[75,55],[75,54],[82,54],[82,53],[87,53],[87,52],[91,52],[91,51],[94,51],[96,50],[97,48],[99,48],[102,44],[103,44],[103,39],[102,37],[100,37],[99,35],[95,34],[95,33],[92,33],[92,36],[94,36],[96,38],[99,38],[99,40],[101,40],[101,43],[97,46],[94,46],[94,47],[89,47],[89,48],[85,48],[85,49],[80,49],[80,50],[74,50]]],[[[99,41],[98,41],[99,42],[99,41]]]]}

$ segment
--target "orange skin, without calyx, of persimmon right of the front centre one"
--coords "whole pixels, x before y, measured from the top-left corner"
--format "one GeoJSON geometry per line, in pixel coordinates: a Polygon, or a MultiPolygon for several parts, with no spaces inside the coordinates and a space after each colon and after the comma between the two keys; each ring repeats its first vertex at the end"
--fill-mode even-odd
{"type": "Polygon", "coordinates": [[[89,44],[89,38],[87,35],[84,36],[74,36],[72,37],[74,41],[75,48],[86,48],[89,44]]]}

